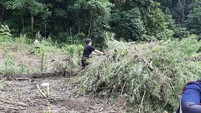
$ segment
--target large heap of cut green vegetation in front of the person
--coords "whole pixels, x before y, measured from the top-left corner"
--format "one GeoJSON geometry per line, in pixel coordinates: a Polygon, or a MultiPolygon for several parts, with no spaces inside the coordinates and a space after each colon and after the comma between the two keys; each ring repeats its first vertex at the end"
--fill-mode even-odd
{"type": "Polygon", "coordinates": [[[194,36],[145,44],[108,42],[82,74],[86,94],[124,95],[130,112],[172,113],[187,81],[201,75],[201,42],[194,36]]]}

